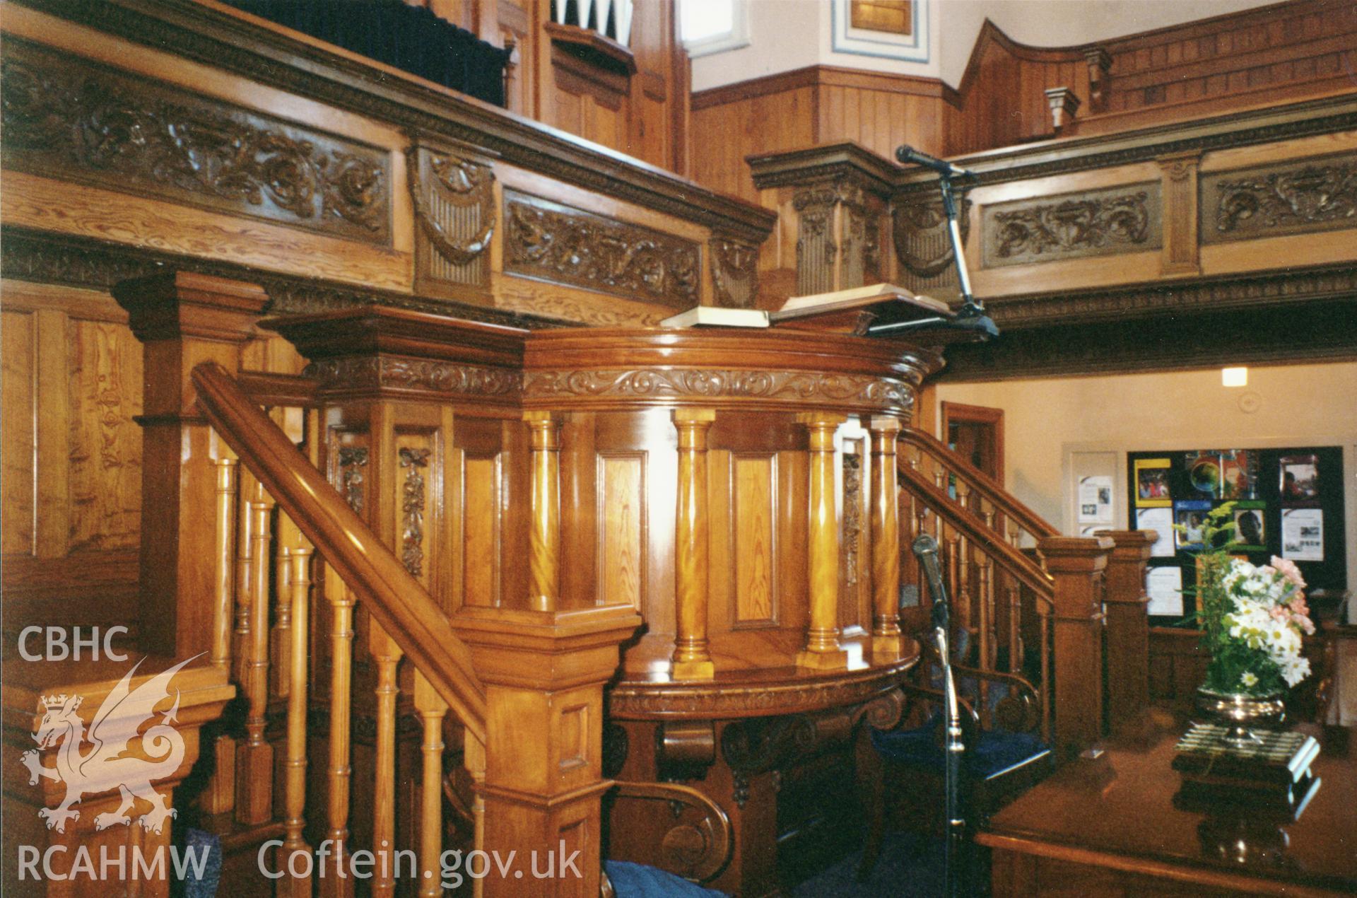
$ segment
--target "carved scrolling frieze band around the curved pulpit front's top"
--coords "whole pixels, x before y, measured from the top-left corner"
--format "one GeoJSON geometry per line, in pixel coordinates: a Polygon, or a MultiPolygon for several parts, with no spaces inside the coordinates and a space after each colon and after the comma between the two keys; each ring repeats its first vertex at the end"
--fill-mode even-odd
{"type": "Polygon", "coordinates": [[[909,409],[913,389],[900,380],[806,371],[643,368],[624,371],[529,371],[528,399],[731,398],[787,402],[847,402],[909,409]]]}

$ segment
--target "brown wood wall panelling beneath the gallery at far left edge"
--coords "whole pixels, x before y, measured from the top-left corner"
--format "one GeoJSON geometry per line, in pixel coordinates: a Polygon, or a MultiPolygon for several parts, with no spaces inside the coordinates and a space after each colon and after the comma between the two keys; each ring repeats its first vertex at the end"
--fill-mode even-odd
{"type": "Polygon", "coordinates": [[[103,291],[3,284],[5,628],[134,625],[141,346],[103,291]]]}

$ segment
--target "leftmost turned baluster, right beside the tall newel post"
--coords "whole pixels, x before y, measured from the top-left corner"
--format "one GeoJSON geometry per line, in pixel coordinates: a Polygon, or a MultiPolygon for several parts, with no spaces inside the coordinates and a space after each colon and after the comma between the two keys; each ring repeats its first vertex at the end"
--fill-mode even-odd
{"type": "MultiPolygon", "coordinates": [[[[224,671],[231,671],[232,609],[235,606],[235,565],[236,565],[236,471],[237,462],[231,447],[209,432],[209,455],[216,467],[216,543],[213,549],[212,588],[212,655],[209,662],[224,671]]],[[[227,734],[217,734],[212,743],[212,777],[202,791],[202,807],[208,814],[225,814],[236,803],[236,740],[227,734]]]]}

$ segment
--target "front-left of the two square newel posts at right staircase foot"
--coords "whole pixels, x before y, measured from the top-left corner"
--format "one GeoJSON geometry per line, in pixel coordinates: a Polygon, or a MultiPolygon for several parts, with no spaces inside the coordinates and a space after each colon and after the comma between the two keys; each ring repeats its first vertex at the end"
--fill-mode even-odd
{"type": "Polygon", "coordinates": [[[1103,735],[1103,571],[1107,537],[1045,537],[1037,550],[1054,579],[1056,743],[1061,758],[1103,735]]]}

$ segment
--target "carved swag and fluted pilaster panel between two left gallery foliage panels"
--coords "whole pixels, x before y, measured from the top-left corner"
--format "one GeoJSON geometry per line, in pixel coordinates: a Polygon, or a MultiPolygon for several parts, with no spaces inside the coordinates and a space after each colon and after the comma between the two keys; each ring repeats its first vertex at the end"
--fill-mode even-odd
{"type": "Polygon", "coordinates": [[[463,154],[417,144],[410,148],[410,171],[421,288],[433,281],[487,289],[497,224],[494,170],[463,154]]]}

